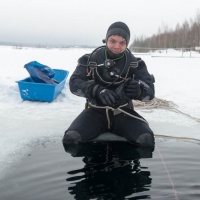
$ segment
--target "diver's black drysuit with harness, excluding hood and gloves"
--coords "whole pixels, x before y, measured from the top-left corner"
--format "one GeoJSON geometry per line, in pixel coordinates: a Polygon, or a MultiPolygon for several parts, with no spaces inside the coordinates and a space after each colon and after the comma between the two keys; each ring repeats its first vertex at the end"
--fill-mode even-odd
{"type": "Polygon", "coordinates": [[[141,94],[135,100],[154,98],[154,84],[146,64],[126,49],[122,58],[111,58],[114,60],[112,67],[106,67],[105,60],[109,59],[109,55],[106,56],[105,51],[106,47],[103,46],[78,60],[69,86],[73,94],[86,98],[88,105],[66,132],[77,131],[82,136],[82,142],[107,131],[133,143],[144,133],[153,137],[148,123],[134,111],[132,99],[126,96],[123,89],[127,80],[135,79],[141,83],[141,94]],[[102,105],[98,98],[98,93],[103,88],[115,91],[119,97],[112,108],[102,105]]]}

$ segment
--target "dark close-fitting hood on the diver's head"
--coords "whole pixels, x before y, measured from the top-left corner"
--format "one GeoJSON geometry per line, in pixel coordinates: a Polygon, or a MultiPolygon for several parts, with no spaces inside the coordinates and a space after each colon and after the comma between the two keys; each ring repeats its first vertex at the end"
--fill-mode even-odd
{"type": "Polygon", "coordinates": [[[106,34],[106,41],[111,35],[119,35],[126,40],[128,46],[130,40],[130,30],[128,26],[123,22],[115,22],[110,25],[106,34]]]}

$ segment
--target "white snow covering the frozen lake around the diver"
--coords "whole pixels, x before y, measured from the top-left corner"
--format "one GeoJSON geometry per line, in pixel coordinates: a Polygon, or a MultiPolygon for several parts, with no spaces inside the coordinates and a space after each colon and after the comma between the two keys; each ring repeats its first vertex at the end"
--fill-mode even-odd
{"type": "MultiPolygon", "coordinates": [[[[70,93],[68,81],[77,59],[89,48],[43,49],[0,46],[0,178],[20,160],[33,142],[60,138],[82,111],[85,99],[70,93]],[[28,77],[24,65],[38,61],[70,72],[65,88],[52,103],[23,101],[17,80],[28,77]]],[[[177,109],[200,118],[200,55],[168,50],[137,55],[155,76],[156,97],[172,101],[177,109]],[[190,57],[191,56],[191,57],[190,57]]],[[[200,123],[191,117],[164,109],[138,112],[156,135],[200,139],[200,123]]]]}

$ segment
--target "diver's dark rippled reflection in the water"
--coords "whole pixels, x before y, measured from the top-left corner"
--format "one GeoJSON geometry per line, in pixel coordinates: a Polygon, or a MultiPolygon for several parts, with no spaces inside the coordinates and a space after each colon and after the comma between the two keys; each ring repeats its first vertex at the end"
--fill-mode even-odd
{"type": "MultiPolygon", "coordinates": [[[[64,146],[73,157],[83,157],[82,169],[69,171],[68,188],[77,200],[121,200],[133,193],[149,190],[150,172],[142,171],[139,159],[151,158],[152,147],[135,147],[129,143],[88,143],[64,146]]],[[[128,198],[128,197],[127,197],[128,198]]],[[[135,198],[146,199],[149,195],[135,198]]],[[[128,199],[132,199],[129,197],[128,199]]]]}

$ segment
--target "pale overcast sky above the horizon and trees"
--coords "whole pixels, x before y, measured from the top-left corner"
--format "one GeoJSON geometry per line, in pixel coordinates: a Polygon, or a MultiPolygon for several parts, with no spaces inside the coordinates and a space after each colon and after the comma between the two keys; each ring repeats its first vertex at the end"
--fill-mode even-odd
{"type": "Polygon", "coordinates": [[[132,41],[198,10],[199,0],[0,0],[0,42],[98,46],[115,21],[129,26],[132,41]]]}

